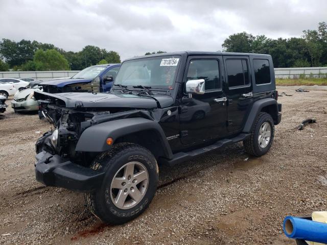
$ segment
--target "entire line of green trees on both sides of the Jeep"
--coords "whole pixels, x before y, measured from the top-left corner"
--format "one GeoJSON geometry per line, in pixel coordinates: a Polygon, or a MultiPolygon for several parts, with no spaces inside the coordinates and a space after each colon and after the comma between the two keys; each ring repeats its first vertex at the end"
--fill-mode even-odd
{"type": "MultiPolygon", "coordinates": [[[[274,67],[327,66],[327,23],[317,30],[305,30],[301,37],[271,39],[241,32],[230,35],[222,44],[225,52],[259,53],[272,56],[274,67]]],[[[147,52],[145,55],[166,53],[147,52]]],[[[82,51],[64,51],[50,43],[9,39],[0,41],[0,71],[81,70],[90,65],[120,63],[117,52],[87,45],[82,51]]]]}

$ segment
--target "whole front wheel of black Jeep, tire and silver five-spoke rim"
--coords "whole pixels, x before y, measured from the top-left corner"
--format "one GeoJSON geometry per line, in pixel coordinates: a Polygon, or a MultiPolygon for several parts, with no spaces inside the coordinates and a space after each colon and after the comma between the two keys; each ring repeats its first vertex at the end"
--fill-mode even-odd
{"type": "Polygon", "coordinates": [[[100,154],[91,168],[105,170],[99,190],[86,193],[91,212],[108,224],[123,224],[141,214],[158,185],[158,166],[141,145],[119,143],[100,154]]]}

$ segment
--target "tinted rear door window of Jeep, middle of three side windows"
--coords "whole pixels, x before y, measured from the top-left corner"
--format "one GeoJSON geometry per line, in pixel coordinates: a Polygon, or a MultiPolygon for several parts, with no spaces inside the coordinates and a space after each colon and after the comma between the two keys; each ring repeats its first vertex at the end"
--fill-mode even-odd
{"type": "Polygon", "coordinates": [[[228,87],[244,86],[249,84],[247,61],[244,59],[227,59],[228,87]]]}

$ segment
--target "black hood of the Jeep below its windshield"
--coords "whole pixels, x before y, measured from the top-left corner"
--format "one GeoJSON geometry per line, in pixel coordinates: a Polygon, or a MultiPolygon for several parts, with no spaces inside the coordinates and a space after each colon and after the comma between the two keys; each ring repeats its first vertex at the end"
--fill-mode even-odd
{"type": "MultiPolygon", "coordinates": [[[[135,108],[135,109],[153,109],[165,108],[173,105],[173,98],[165,94],[137,95],[137,94],[113,94],[113,93],[46,93],[36,91],[34,93],[36,100],[58,99],[67,108],[85,107],[107,107],[107,108],[135,108]],[[63,104],[63,103],[64,104],[63,104]]],[[[54,100],[53,100],[54,101],[54,100]]]]}

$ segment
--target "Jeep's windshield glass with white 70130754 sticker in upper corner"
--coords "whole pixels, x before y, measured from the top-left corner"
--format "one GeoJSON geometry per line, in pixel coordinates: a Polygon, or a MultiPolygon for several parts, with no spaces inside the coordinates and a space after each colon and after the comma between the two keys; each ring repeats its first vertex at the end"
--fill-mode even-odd
{"type": "Polygon", "coordinates": [[[114,84],[172,89],[180,56],[129,60],[122,64],[114,84]]]}

